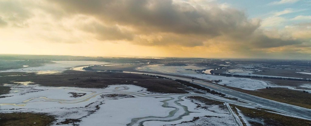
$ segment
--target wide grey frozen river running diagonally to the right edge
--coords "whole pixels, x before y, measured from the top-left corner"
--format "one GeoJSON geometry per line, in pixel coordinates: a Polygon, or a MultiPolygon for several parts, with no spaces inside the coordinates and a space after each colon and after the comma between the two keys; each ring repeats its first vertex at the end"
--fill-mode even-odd
{"type": "MultiPolygon", "coordinates": [[[[142,72],[126,72],[125,71],[125,73],[150,74],[150,73],[143,73],[143,71],[142,72]]],[[[169,76],[169,75],[162,75],[162,74],[150,74],[150,75],[158,75],[158,76],[168,77],[172,79],[181,79],[181,80],[190,81],[190,82],[192,81],[192,79],[169,76]]],[[[285,113],[288,115],[296,116],[298,118],[311,120],[311,109],[306,109],[306,108],[302,108],[299,106],[294,106],[294,105],[289,105],[286,103],[264,99],[261,97],[249,95],[243,92],[238,92],[238,91],[235,91],[229,88],[221,87],[221,86],[208,83],[208,82],[204,82],[204,81],[200,81],[200,80],[194,80],[193,83],[201,85],[206,88],[210,88],[212,90],[215,90],[221,93],[225,93],[227,96],[237,97],[239,98],[239,100],[243,100],[243,101],[245,100],[249,103],[252,103],[248,106],[266,108],[266,109],[275,110],[281,113],[285,113]]]]}

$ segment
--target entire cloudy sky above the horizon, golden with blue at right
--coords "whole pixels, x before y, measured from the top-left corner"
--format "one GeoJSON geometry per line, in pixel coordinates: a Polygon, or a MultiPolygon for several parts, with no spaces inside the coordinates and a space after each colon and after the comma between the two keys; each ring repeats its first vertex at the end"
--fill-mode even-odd
{"type": "Polygon", "coordinates": [[[0,54],[311,60],[311,0],[1,0],[0,54]]]}

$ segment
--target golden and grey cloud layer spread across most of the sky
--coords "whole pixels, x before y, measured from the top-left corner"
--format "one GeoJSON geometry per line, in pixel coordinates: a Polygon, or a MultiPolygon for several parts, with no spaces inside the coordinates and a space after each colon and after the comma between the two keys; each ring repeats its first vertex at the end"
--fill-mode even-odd
{"type": "MultiPolygon", "coordinates": [[[[295,1],[282,0],[275,4],[290,2],[295,1]]],[[[301,29],[298,24],[282,30],[263,29],[260,19],[250,19],[244,11],[213,1],[203,6],[193,1],[173,0],[4,0],[0,8],[0,30],[19,27],[17,31],[26,38],[30,37],[26,31],[36,34],[36,41],[131,43],[211,51],[217,47],[239,56],[291,51],[310,56],[310,52],[302,48],[302,45],[311,47],[310,36],[295,33],[301,29]]],[[[287,11],[276,16],[289,13],[287,11]]],[[[309,16],[293,20],[301,18],[309,16]]],[[[264,23],[273,25],[273,22],[264,23]]]]}

